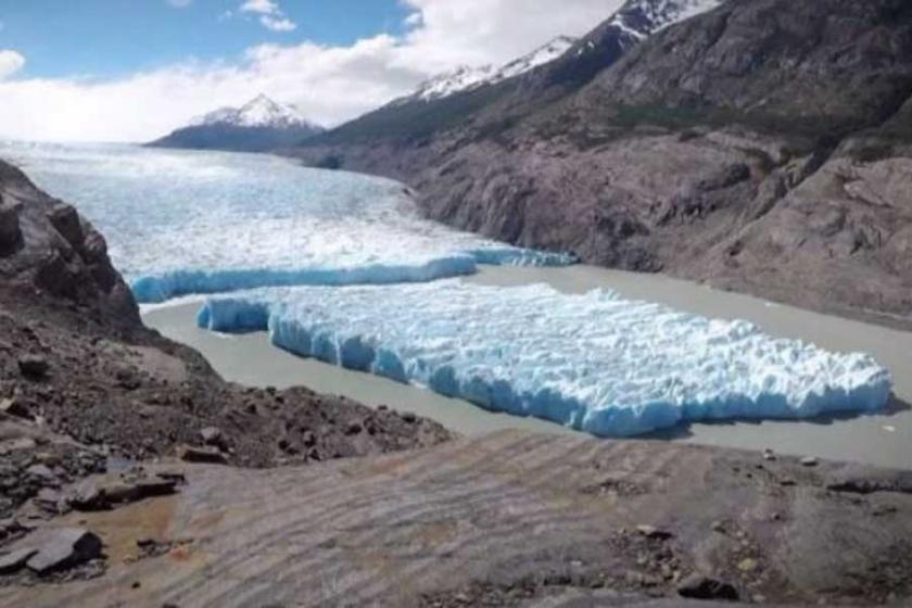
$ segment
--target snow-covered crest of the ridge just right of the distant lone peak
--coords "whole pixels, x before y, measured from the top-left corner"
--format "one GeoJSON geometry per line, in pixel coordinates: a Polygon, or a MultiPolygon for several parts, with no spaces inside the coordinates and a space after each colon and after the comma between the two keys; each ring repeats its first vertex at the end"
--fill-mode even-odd
{"type": "Polygon", "coordinates": [[[397,99],[393,102],[393,105],[402,105],[411,101],[433,101],[457,92],[477,89],[484,85],[497,84],[507,78],[524,74],[549,61],[554,61],[566,53],[574,42],[575,40],[573,38],[559,36],[547,45],[501,67],[493,65],[482,65],[479,67],[464,65],[457,67],[452,72],[426,80],[414,93],[397,99]]]}

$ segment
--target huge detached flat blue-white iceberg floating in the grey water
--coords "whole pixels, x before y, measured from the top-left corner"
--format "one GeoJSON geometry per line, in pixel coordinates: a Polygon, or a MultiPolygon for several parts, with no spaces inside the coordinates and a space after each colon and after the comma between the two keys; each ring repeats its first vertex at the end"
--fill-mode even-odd
{"type": "Polygon", "coordinates": [[[601,436],[681,422],[802,419],[885,407],[871,356],[767,335],[596,290],[297,287],[210,297],[200,327],[268,330],[294,354],[601,436]]]}

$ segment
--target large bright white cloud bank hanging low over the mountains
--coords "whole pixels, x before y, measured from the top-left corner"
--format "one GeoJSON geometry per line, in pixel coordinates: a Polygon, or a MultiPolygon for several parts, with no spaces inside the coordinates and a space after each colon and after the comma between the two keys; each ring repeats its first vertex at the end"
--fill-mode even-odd
{"type": "MultiPolygon", "coordinates": [[[[261,8],[275,4],[253,1],[261,8]]],[[[0,81],[0,138],[145,141],[259,92],[333,125],[408,92],[440,71],[503,63],[557,35],[582,35],[621,3],[561,0],[557,8],[555,0],[403,1],[420,20],[409,18],[402,37],[378,35],[345,47],[264,45],[232,60],[183,62],[109,80],[0,81]]]]}

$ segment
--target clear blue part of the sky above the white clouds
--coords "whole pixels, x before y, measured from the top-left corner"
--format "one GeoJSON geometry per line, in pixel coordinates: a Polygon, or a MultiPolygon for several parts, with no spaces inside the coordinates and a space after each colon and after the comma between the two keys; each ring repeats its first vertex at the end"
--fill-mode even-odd
{"type": "Polygon", "coordinates": [[[408,10],[395,0],[284,0],[295,24],[270,31],[232,0],[0,0],[0,47],[28,58],[24,76],[110,78],[188,59],[232,58],[263,42],[302,39],[349,46],[401,35],[408,10]],[[230,11],[230,16],[229,16],[230,11]]]}

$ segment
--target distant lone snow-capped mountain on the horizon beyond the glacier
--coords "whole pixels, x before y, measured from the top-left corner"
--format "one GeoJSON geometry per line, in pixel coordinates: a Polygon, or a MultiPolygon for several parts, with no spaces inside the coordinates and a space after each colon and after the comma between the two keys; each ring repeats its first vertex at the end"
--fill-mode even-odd
{"type": "Polygon", "coordinates": [[[324,129],[265,94],[241,107],[223,107],[157,139],[150,147],[261,152],[299,143],[324,129]]]}

